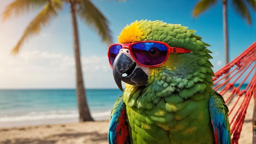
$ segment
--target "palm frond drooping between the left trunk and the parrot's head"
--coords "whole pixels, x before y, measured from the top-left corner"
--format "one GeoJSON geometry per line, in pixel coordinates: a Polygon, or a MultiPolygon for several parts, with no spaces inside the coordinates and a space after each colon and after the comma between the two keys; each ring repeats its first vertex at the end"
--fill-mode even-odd
{"type": "Polygon", "coordinates": [[[112,42],[108,20],[90,0],[80,0],[78,4],[78,14],[89,26],[93,26],[94,29],[98,31],[98,34],[104,42],[108,44],[112,42]]]}

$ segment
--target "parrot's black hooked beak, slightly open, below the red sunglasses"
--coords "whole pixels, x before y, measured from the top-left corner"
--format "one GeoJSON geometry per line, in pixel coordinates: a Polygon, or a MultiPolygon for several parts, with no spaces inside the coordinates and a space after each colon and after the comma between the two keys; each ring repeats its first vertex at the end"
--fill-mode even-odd
{"type": "Polygon", "coordinates": [[[113,63],[113,76],[121,91],[123,91],[121,81],[137,86],[146,85],[148,83],[148,75],[141,68],[136,68],[136,63],[125,55],[124,52],[119,52],[115,58],[113,63]],[[124,73],[127,74],[127,76],[122,76],[124,73]]]}

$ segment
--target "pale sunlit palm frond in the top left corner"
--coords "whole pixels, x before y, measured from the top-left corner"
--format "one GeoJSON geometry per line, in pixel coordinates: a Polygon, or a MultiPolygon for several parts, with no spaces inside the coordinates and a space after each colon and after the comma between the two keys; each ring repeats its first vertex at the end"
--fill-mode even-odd
{"type": "Polygon", "coordinates": [[[15,0],[9,4],[2,13],[2,20],[7,20],[12,15],[19,16],[25,11],[45,5],[50,0],[15,0]]]}

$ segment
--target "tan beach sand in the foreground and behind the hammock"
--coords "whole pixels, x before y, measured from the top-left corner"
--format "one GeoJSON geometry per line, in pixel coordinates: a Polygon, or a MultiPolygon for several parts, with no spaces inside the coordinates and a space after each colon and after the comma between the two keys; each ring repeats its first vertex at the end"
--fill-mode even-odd
{"type": "MultiPolygon", "coordinates": [[[[235,96],[229,107],[234,105],[235,96]]],[[[239,103],[238,103],[239,106],[239,103]]],[[[240,144],[252,144],[251,100],[240,135],[240,144]]],[[[47,124],[0,129],[0,144],[108,144],[108,121],[47,124]]]]}

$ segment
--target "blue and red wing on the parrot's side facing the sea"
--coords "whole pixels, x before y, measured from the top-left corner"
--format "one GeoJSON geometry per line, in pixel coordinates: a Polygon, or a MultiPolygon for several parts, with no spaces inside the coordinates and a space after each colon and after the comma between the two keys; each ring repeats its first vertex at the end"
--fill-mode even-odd
{"type": "Polygon", "coordinates": [[[126,106],[123,96],[116,101],[109,121],[108,130],[109,144],[130,144],[126,106]]]}

